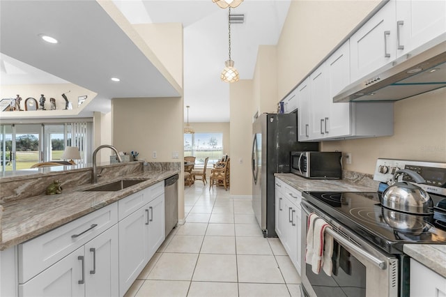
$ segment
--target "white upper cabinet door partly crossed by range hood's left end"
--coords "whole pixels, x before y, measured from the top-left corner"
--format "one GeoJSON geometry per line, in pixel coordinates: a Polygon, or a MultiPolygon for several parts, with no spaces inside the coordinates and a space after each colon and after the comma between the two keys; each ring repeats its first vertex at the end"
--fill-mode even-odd
{"type": "Polygon", "coordinates": [[[341,45],[327,60],[330,113],[325,115],[328,126],[325,137],[341,137],[351,134],[350,102],[333,103],[333,97],[350,84],[350,43],[341,45]]]}

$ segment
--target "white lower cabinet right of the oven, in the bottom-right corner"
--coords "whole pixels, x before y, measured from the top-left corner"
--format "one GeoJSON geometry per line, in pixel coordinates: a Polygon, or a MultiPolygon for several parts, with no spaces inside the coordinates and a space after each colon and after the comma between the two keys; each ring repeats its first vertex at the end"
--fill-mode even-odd
{"type": "Polygon", "coordinates": [[[410,259],[410,297],[445,297],[446,278],[410,259]]]}

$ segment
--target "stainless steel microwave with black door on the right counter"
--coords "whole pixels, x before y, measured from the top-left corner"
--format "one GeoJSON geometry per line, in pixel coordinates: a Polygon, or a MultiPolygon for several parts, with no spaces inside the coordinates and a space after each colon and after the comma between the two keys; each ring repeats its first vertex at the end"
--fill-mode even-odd
{"type": "Polygon", "coordinates": [[[341,178],[340,151],[292,151],[291,172],[305,178],[341,178]]]}

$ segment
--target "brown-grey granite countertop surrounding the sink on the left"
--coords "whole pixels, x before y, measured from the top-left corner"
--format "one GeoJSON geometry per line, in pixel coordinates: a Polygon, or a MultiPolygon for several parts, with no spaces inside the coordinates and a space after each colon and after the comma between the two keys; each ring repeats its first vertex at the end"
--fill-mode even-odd
{"type": "Polygon", "coordinates": [[[93,186],[102,185],[121,178],[109,179],[95,185],[82,185],[77,188],[63,190],[59,195],[38,195],[26,199],[10,201],[2,204],[1,218],[2,236],[0,250],[23,243],[47,231],[61,226],[118,201],[134,192],[143,190],[180,171],[168,169],[152,171],[146,174],[134,174],[125,178],[146,179],[137,185],[116,192],[82,192],[93,186]]]}

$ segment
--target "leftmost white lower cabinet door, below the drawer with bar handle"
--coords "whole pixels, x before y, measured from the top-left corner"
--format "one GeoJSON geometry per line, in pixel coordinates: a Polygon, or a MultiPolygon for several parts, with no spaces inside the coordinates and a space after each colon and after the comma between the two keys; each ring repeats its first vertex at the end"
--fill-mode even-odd
{"type": "Polygon", "coordinates": [[[84,247],[19,285],[19,296],[84,296],[84,247]]]}

